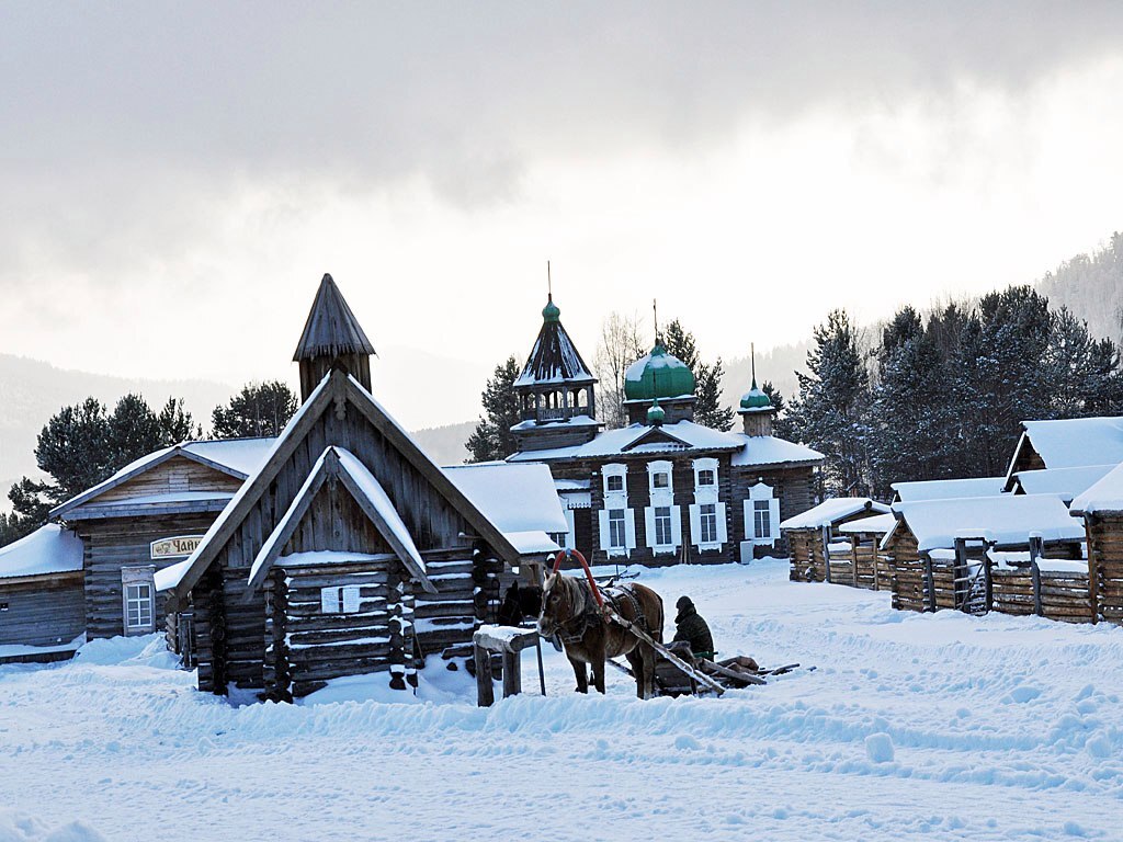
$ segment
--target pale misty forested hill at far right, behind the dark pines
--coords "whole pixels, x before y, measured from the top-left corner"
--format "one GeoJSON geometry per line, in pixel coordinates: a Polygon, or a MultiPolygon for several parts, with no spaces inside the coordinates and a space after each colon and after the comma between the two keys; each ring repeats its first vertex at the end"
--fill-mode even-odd
{"type": "Polygon", "coordinates": [[[1123,234],[1098,251],[1078,255],[1047,274],[1038,291],[1054,308],[1065,305],[1098,337],[1123,345],[1123,234]]]}

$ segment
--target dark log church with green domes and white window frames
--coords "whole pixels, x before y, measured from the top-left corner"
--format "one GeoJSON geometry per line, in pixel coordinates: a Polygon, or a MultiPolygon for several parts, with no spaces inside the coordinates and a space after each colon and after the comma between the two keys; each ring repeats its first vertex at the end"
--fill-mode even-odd
{"type": "Polygon", "coordinates": [[[814,505],[823,455],[773,436],[776,413],[756,377],[741,431],[695,423],[695,378],[657,340],[627,369],[628,425],[602,430],[596,378],[553,295],[514,382],[521,418],[512,464],[549,466],[565,507],[559,539],[593,564],[748,561],[787,551],[780,519],[814,505]]]}

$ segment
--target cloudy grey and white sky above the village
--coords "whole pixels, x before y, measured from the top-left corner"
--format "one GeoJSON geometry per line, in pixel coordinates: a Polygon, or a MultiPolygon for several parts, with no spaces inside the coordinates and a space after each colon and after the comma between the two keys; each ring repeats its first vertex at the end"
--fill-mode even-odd
{"type": "Polygon", "coordinates": [[[464,420],[529,353],[547,259],[590,361],[652,300],[729,358],[837,306],[1031,282],[1121,227],[1121,25],[1032,0],[6,3],[0,353],[292,378],[330,272],[421,425],[419,381],[464,420]]]}

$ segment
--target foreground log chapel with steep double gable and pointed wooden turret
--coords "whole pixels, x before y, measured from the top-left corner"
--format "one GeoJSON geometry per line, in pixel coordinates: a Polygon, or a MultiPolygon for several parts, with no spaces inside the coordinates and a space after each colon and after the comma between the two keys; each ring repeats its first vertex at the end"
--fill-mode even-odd
{"type": "Polygon", "coordinates": [[[295,354],[302,405],[162,574],[170,607],[193,612],[200,689],[289,699],[375,671],[405,688],[424,655],[471,640],[482,585],[519,565],[374,399],[373,353],[326,275],[295,354]]]}

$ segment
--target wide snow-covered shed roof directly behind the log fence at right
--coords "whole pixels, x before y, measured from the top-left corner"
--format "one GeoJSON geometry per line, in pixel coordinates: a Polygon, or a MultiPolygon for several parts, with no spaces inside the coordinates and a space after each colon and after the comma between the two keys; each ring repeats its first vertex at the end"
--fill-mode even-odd
{"type": "MultiPolygon", "coordinates": [[[[1052,494],[925,500],[894,503],[893,511],[916,537],[922,552],[955,547],[957,538],[979,538],[999,546],[1026,543],[1030,536],[1046,541],[1084,538],[1084,524],[1052,494]]],[[[883,547],[893,531],[886,533],[883,547]]]]}

